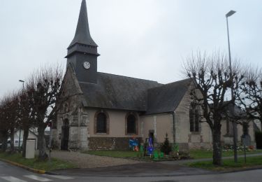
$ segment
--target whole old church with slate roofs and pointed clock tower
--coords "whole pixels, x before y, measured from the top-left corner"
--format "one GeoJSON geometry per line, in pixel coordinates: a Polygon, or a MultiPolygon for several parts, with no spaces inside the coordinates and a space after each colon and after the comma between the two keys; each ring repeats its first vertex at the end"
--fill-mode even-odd
{"type": "MultiPolygon", "coordinates": [[[[152,80],[97,71],[98,45],[92,39],[86,1],[82,0],[75,36],[68,46],[67,66],[52,133],[61,150],[124,150],[129,139],[161,144],[166,134],[181,150],[212,148],[212,133],[191,104],[190,79],[161,84],[152,80]]],[[[230,126],[222,125],[222,142],[230,144],[230,126]]],[[[253,126],[249,134],[254,141],[253,126]]],[[[242,126],[238,126],[238,141],[242,126]]]]}

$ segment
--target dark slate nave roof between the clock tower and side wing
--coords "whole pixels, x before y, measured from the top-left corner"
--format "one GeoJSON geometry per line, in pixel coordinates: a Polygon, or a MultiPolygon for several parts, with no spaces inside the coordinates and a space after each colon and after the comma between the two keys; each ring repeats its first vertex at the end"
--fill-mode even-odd
{"type": "Polygon", "coordinates": [[[146,111],[147,90],[161,84],[152,80],[97,73],[97,84],[79,85],[85,97],[84,106],[146,111]]]}

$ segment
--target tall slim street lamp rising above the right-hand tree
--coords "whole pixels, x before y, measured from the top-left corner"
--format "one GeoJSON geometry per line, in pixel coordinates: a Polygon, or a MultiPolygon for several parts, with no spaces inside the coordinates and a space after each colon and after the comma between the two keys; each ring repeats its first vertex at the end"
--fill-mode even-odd
{"type": "MultiPolygon", "coordinates": [[[[235,14],[235,10],[231,10],[226,13],[226,28],[228,32],[228,57],[229,57],[229,70],[230,70],[230,77],[232,78],[232,64],[231,64],[231,51],[230,51],[230,41],[229,41],[229,30],[228,30],[228,17],[235,14]]],[[[231,84],[231,99],[233,99],[233,83],[231,84]]],[[[235,107],[235,103],[233,103],[233,112],[235,107]]],[[[237,150],[237,124],[235,120],[233,120],[233,149],[234,149],[234,162],[238,162],[238,150],[237,150]]]]}

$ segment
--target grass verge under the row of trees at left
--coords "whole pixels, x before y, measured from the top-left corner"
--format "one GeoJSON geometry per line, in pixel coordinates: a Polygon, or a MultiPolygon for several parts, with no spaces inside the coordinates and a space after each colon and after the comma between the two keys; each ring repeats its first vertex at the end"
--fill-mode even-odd
{"type": "Polygon", "coordinates": [[[68,169],[68,168],[74,168],[75,165],[71,164],[70,162],[64,162],[62,160],[57,160],[55,158],[52,158],[51,164],[49,164],[48,160],[45,161],[38,161],[36,159],[25,159],[22,158],[22,154],[15,153],[15,154],[8,154],[8,153],[0,153],[0,158],[4,160],[10,160],[12,162],[19,163],[21,165],[31,167],[34,169],[39,170],[55,170],[55,169],[68,169]]]}

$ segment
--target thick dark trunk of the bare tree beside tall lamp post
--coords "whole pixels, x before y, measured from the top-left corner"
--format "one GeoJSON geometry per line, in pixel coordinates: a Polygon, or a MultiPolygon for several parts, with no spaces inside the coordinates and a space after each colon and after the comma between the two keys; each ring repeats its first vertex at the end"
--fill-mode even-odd
{"type": "Polygon", "coordinates": [[[213,137],[213,165],[222,165],[221,130],[220,127],[212,131],[213,137]]]}

